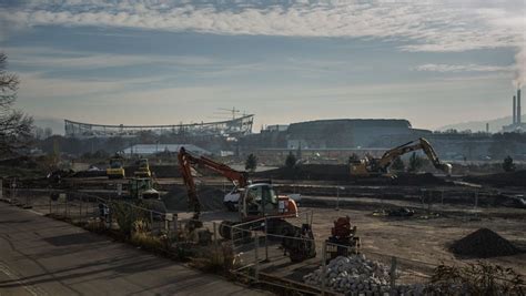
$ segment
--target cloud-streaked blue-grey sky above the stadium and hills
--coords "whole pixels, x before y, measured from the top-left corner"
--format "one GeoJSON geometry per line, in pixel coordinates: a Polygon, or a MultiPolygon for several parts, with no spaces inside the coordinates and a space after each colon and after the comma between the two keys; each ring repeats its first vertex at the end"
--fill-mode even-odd
{"type": "MultiPolygon", "coordinates": [[[[0,0],[0,51],[36,119],[176,124],[255,114],[414,127],[510,115],[526,0],[0,0]]],[[[526,105],[526,103],[524,103],[526,105]]]]}

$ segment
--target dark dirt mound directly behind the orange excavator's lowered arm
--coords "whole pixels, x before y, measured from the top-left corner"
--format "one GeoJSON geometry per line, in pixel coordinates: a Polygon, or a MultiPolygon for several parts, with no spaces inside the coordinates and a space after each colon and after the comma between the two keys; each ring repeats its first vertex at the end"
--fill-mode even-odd
{"type": "MultiPolygon", "coordinates": [[[[223,205],[224,193],[221,190],[202,186],[198,188],[201,211],[225,210],[223,205]]],[[[184,186],[173,186],[163,196],[166,208],[172,211],[189,211],[188,193],[184,186]]]]}

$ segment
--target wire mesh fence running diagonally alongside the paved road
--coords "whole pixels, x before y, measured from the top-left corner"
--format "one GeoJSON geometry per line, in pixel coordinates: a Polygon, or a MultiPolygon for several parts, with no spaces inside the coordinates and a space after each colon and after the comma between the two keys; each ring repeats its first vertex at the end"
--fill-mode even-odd
{"type": "MultiPolygon", "coordinates": [[[[234,225],[211,221],[198,227],[201,222],[152,210],[151,204],[52,188],[2,187],[0,200],[90,231],[131,235],[133,244],[190,258],[198,267],[223,269],[246,282],[305,294],[423,295],[437,268],[436,264],[358,252],[355,246],[314,237],[270,233],[269,218],[234,225]],[[222,232],[229,232],[230,237],[223,238],[222,232]],[[283,247],[285,239],[294,248],[283,247]],[[314,254],[295,262],[295,255],[305,249],[314,254]]],[[[312,212],[301,213],[290,223],[299,228],[308,225],[312,212]]]]}

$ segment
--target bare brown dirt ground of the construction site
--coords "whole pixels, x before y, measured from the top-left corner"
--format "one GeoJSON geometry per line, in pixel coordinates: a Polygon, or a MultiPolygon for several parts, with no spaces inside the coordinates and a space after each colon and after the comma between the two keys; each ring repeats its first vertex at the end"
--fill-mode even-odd
{"type": "MultiPolygon", "coordinates": [[[[75,191],[109,196],[115,193],[117,183],[125,184],[127,182],[127,180],[79,178],[73,181],[74,186],[72,187],[75,191]]],[[[231,185],[216,177],[204,178],[203,183],[213,188],[213,191],[209,191],[209,194],[214,196],[208,196],[201,202],[210,208],[215,208],[202,214],[204,225],[212,231],[212,222],[219,225],[225,220],[237,220],[236,213],[226,212],[221,205],[223,193],[227,192],[231,185]]],[[[338,190],[337,187],[341,185],[336,182],[310,181],[296,182],[292,185],[285,183],[281,181],[276,184],[280,193],[299,192],[302,194],[300,210],[303,214],[294,221],[294,224],[301,224],[312,213],[317,256],[303,263],[292,264],[279,248],[280,242],[274,241],[269,244],[270,262],[260,263],[262,273],[302,280],[303,275],[320,266],[322,243],[331,235],[333,221],[340,216],[348,215],[352,225],[357,226],[357,235],[362,239],[361,252],[384,264],[390,264],[391,256],[396,256],[399,267],[409,271],[406,274],[407,283],[414,282],[417,277],[425,278],[431,274],[433,267],[441,263],[454,265],[476,262],[476,258],[455,257],[448,251],[448,246],[483,227],[496,232],[523,251],[517,255],[493,257],[486,261],[504,267],[512,267],[517,273],[526,275],[526,231],[524,229],[526,208],[495,203],[502,198],[502,192],[520,194],[524,192],[520,188],[495,190],[454,184],[441,186],[346,184],[344,190],[338,190]],[[445,197],[435,194],[431,200],[421,198],[422,193],[426,191],[445,192],[445,197]],[[415,210],[416,214],[413,217],[373,215],[373,212],[397,207],[415,210]]],[[[159,184],[161,190],[168,194],[173,193],[178,197],[175,201],[185,200],[185,190],[180,180],[162,178],[159,180],[159,184]]],[[[42,188],[42,193],[44,191],[47,190],[42,188]]],[[[36,197],[32,198],[36,200],[36,197]]],[[[42,211],[47,208],[45,198],[44,195],[41,196],[42,211]]],[[[192,215],[181,208],[170,210],[170,212],[178,213],[181,220],[190,218],[192,215]]],[[[260,243],[259,257],[263,259],[264,242],[260,243]]],[[[243,253],[241,258],[244,258],[245,264],[253,263],[253,246],[254,241],[252,239],[240,248],[243,253]]]]}

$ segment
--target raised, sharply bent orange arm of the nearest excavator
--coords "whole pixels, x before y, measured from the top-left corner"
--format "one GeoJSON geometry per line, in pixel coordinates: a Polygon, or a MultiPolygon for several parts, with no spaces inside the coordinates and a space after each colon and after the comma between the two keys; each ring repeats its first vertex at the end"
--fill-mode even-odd
{"type": "Polygon", "coordinates": [[[198,197],[198,190],[192,175],[192,167],[194,165],[203,165],[214,172],[218,172],[239,187],[245,187],[247,185],[247,177],[244,172],[235,171],[225,164],[214,162],[213,160],[204,156],[193,156],[186,152],[184,147],[181,147],[179,151],[178,160],[189,195],[189,206],[191,210],[193,210],[194,220],[199,220],[199,216],[201,215],[201,203],[198,197]]]}

